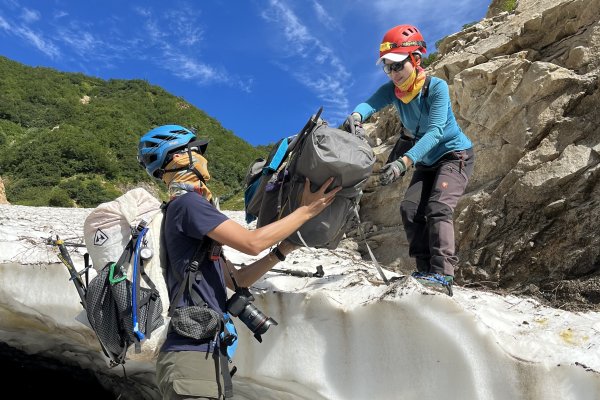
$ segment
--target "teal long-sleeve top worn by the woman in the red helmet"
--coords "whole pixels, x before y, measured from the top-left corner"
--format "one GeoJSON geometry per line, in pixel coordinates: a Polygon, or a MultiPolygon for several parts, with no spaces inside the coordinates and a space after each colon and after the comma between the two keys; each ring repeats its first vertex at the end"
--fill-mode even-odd
{"type": "Polygon", "coordinates": [[[448,84],[443,79],[432,77],[427,97],[423,99],[419,93],[408,104],[396,97],[394,83],[389,81],[366,102],[357,105],[353,112],[366,121],[389,104],[394,105],[404,127],[415,136],[415,145],[404,154],[413,164],[433,165],[446,153],[473,147],[456,122],[448,84]]]}

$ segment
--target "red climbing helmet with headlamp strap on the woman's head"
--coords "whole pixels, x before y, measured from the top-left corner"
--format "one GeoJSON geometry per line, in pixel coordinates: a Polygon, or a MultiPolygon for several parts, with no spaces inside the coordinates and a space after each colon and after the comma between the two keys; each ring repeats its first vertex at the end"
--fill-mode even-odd
{"type": "Polygon", "coordinates": [[[384,59],[400,62],[413,52],[427,53],[421,31],[413,25],[398,25],[387,31],[381,40],[377,64],[384,59]]]}

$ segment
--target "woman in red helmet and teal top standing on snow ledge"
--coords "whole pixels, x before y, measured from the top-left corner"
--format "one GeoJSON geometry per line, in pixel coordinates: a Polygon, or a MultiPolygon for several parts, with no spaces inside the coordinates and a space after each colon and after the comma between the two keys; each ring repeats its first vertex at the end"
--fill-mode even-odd
{"type": "Polygon", "coordinates": [[[425,40],[416,27],[390,29],[381,41],[377,61],[389,82],[356,106],[352,117],[360,123],[390,104],[398,111],[404,126],[401,139],[409,136],[409,145],[399,153],[392,152],[380,171],[380,182],[391,184],[414,167],[400,205],[409,255],[416,260],[413,277],[452,296],[458,263],[453,213],[473,172],[474,154],[452,112],[448,84],[427,77],[421,67],[426,52],[425,40]]]}

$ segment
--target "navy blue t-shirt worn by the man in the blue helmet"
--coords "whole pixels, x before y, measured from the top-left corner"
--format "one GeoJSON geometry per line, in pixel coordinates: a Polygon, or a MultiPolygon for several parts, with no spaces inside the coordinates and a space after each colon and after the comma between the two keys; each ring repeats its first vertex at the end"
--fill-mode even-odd
{"type": "MultiPolygon", "coordinates": [[[[170,302],[173,302],[180,282],[169,270],[176,269],[181,277],[194,257],[196,249],[206,237],[206,234],[225,222],[228,217],[217,210],[204,197],[195,192],[181,195],[174,199],[167,208],[165,215],[165,245],[169,255],[167,270],[167,288],[170,302]]],[[[223,269],[218,262],[204,258],[200,265],[202,276],[196,275],[193,289],[215,309],[226,311],[227,291],[223,279],[223,269]]],[[[180,306],[193,305],[190,296],[184,292],[180,306]]],[[[161,351],[206,351],[206,341],[198,341],[169,332],[161,351]]]]}

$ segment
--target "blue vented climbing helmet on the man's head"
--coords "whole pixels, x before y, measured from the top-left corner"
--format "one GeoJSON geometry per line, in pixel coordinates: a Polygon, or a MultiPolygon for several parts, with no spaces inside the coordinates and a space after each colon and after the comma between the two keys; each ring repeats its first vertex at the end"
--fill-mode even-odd
{"type": "MultiPolygon", "coordinates": [[[[148,131],[140,138],[138,162],[148,175],[160,179],[170,155],[188,147],[196,139],[196,134],[180,125],[162,125],[148,131]]],[[[201,153],[206,143],[201,146],[201,153]]]]}

